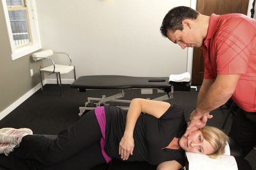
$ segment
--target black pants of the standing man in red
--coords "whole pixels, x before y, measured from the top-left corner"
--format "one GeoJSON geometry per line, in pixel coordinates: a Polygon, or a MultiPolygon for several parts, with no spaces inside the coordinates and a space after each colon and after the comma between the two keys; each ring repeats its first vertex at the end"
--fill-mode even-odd
{"type": "Polygon", "coordinates": [[[256,145],[256,113],[238,109],[233,120],[229,136],[234,138],[245,157],[256,145]]]}

